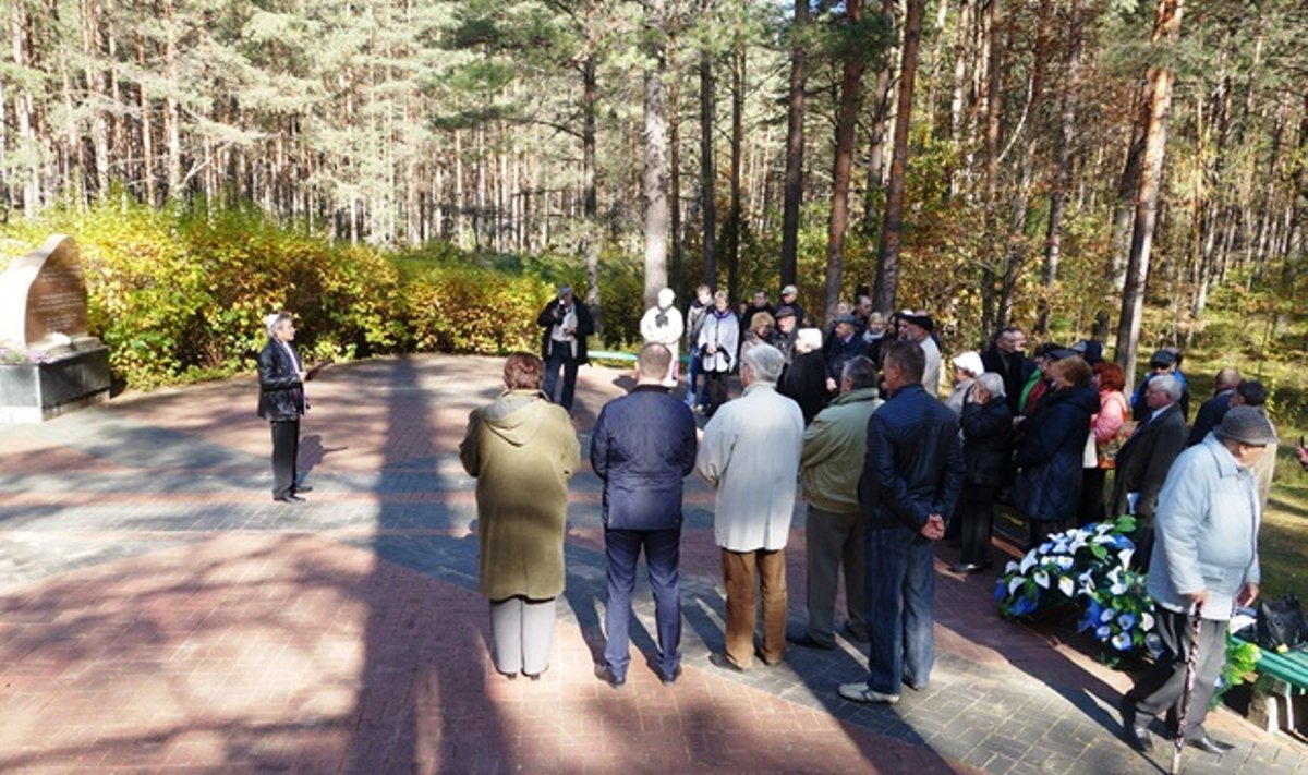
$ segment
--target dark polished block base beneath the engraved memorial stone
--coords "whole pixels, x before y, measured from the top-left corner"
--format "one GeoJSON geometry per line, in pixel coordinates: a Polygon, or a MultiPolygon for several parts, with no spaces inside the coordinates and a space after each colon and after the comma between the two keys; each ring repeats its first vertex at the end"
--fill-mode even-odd
{"type": "Polygon", "coordinates": [[[0,424],[41,423],[109,401],[109,348],[95,342],[46,363],[0,364],[0,424]]]}

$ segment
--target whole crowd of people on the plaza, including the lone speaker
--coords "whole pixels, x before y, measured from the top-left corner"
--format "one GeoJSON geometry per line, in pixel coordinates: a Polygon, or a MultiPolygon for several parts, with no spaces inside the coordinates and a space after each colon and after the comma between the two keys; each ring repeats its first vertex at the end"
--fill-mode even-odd
{"type": "MultiPolygon", "coordinates": [[[[663,289],[641,321],[646,343],[636,388],[602,408],[589,450],[604,486],[607,645],[595,665],[599,679],[627,682],[642,552],[655,602],[654,665],[667,685],[681,674],[681,496],[693,473],[715,490],[726,631],[710,664],[719,669],[777,665],[787,643],[833,649],[842,634],[866,651],[869,670],[838,686],[841,696],[893,703],[901,686],[921,690],[934,662],[937,546],[957,550],[951,572],[985,571],[994,508],[1007,501],[1028,525],[1028,547],[1076,524],[1135,516],[1134,556],[1150,571],[1164,652],[1124,698],[1130,745],[1151,745],[1141,713],[1176,711],[1177,674],[1193,648],[1184,634],[1196,621],[1206,634],[1199,682],[1211,694],[1216,651],[1224,653],[1214,634],[1224,631],[1235,605],[1253,601],[1260,580],[1257,530],[1275,457],[1267,449],[1277,444],[1260,382],[1222,369],[1190,424],[1177,350],[1155,352],[1127,397],[1122,369],[1103,360],[1097,342],[1045,343],[1028,356],[1024,333],[1006,327],[985,352],[951,357],[946,386],[926,312],[883,314],[859,297],[819,329],[806,325],[794,287],[782,289],[781,301],[773,308],[759,291],[734,310],[726,293],[701,285],[683,314],[663,289]],[[681,347],[685,391],[676,395],[681,347]],[[730,398],[732,374],[738,398],[730,398]],[[798,495],[807,507],[806,617],[787,627],[785,550],[798,495]],[[837,626],[841,579],[846,610],[837,626]]],[[[569,415],[594,333],[566,285],[538,322],[540,356],[506,360],[504,393],[472,412],[459,448],[477,480],[493,661],[508,678],[532,679],[548,668],[555,600],[564,588],[568,480],[581,454],[569,415]]],[[[294,496],[298,479],[279,450],[289,433],[276,425],[303,411],[305,373],[289,344],[289,315],[269,319],[268,333],[260,412],[267,408],[275,427],[280,500],[294,496]]],[[[1295,453],[1308,469],[1308,450],[1300,444],[1295,453]]],[[[1224,750],[1202,717],[1185,740],[1224,750]]]]}

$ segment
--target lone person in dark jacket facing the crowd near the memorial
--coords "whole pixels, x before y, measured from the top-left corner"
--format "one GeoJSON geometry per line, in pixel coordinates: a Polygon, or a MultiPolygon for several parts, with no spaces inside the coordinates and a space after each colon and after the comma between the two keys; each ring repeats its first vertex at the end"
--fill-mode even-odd
{"type": "Polygon", "coordinates": [[[272,499],[303,503],[297,492],[310,488],[300,483],[296,457],[300,454],[300,416],[309,408],[305,380],[309,372],[300,363],[296,325],[289,312],[264,319],[268,343],[259,351],[259,416],[272,425],[272,499]]]}

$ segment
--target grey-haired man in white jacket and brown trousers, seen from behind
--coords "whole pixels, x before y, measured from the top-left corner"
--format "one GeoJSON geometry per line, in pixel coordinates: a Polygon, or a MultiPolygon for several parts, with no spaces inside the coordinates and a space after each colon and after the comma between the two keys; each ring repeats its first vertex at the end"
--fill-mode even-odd
{"type": "Polygon", "coordinates": [[[725,403],[704,429],[695,470],[717,488],[713,535],[722,549],[727,590],[725,653],[710,661],[743,672],[753,665],[756,588],[763,590],[763,648],[776,665],[786,639],[786,538],[795,508],[795,474],[803,442],[799,405],[777,393],[785,356],[770,344],[751,347],[740,361],[744,395],[725,403]]]}

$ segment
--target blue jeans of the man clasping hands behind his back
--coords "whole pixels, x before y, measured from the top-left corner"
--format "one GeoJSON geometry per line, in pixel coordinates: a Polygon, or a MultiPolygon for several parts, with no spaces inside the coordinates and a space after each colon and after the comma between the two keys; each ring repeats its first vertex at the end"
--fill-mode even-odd
{"type": "Polygon", "coordinates": [[[935,542],[908,528],[869,528],[867,687],[899,694],[900,683],[923,687],[931,679],[935,640],[935,542]]]}

